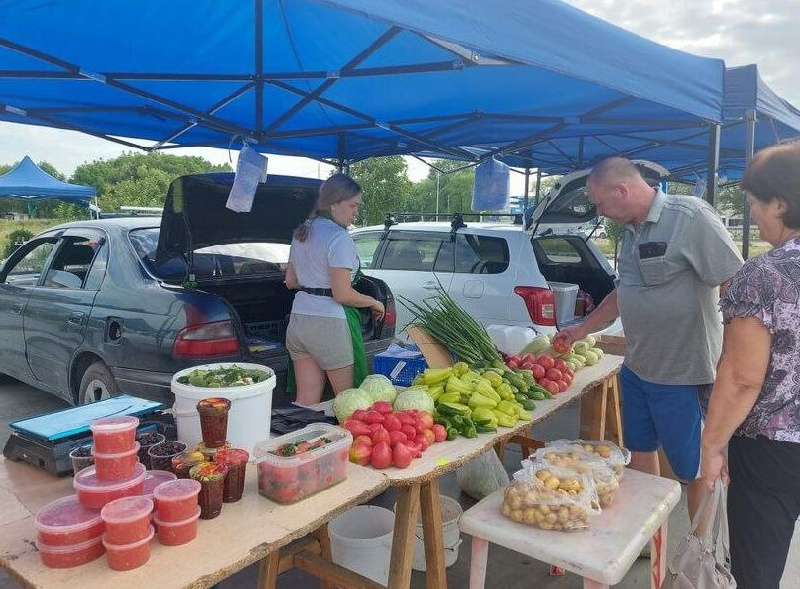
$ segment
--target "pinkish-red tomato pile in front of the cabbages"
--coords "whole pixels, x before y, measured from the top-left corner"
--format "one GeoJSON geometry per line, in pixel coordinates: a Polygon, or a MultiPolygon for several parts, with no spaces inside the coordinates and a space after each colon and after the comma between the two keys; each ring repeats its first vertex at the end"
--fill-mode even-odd
{"type": "Polygon", "coordinates": [[[357,409],[343,427],[353,435],[350,461],[379,469],[408,468],[428,446],[447,439],[447,430],[427,411],[395,411],[387,401],[357,409]]]}

